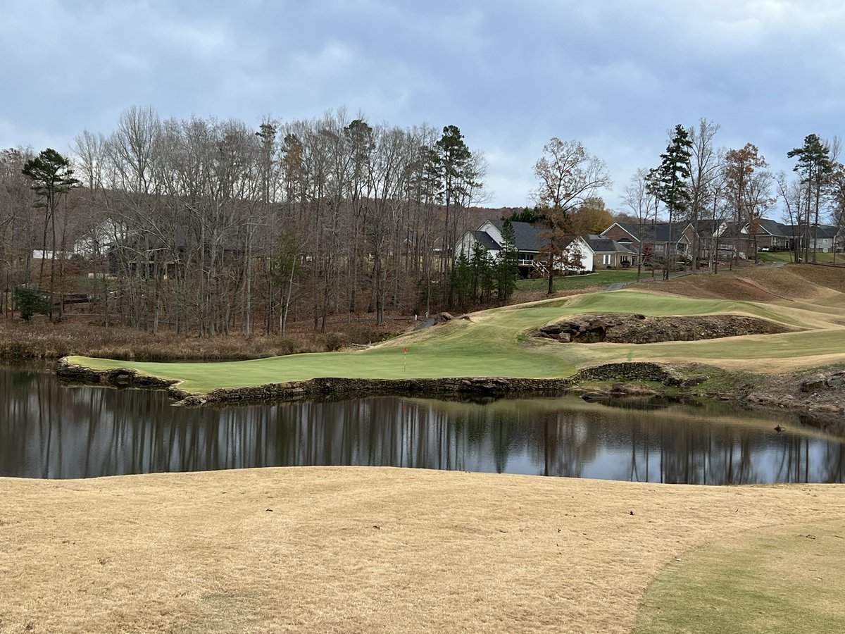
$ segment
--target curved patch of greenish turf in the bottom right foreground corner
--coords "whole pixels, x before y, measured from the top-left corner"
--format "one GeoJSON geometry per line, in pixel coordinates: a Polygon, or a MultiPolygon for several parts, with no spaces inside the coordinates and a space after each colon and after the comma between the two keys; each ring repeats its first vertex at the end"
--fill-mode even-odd
{"type": "Polygon", "coordinates": [[[682,554],[646,593],[637,634],[845,631],[845,532],[751,531],[682,554]]]}

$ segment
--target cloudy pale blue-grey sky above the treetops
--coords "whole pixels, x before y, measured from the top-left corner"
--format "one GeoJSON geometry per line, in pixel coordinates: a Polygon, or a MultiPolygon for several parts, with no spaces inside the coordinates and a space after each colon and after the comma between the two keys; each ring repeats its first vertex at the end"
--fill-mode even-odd
{"type": "Polygon", "coordinates": [[[676,123],[773,169],[845,134],[845,3],[827,0],[0,0],[0,148],[68,152],[130,106],[162,118],[456,125],[490,206],[521,206],[553,136],[607,161],[611,206],[676,123]]]}

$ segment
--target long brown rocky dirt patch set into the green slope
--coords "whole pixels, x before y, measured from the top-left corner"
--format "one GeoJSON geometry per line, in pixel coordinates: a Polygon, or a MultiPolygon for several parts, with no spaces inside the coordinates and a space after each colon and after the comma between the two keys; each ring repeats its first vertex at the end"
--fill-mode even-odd
{"type": "Polygon", "coordinates": [[[690,317],[595,314],[544,325],[535,336],[573,343],[659,343],[695,342],[726,336],[775,335],[789,331],[773,321],[739,314],[690,317]]]}

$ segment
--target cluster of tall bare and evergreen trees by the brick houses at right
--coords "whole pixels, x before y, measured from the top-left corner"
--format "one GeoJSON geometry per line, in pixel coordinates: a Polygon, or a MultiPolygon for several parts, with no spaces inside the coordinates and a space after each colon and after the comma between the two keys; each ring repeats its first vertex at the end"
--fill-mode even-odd
{"type": "MultiPolygon", "coordinates": [[[[725,249],[739,255],[737,243],[743,227],[751,251],[757,253],[755,234],[760,221],[781,204],[781,220],[793,227],[791,244],[796,261],[817,261],[819,226],[826,221],[843,227],[845,166],[839,160],[838,138],[821,139],[808,134],[786,156],[796,160],[793,176],[771,172],[766,157],[753,143],[741,148],[716,145],[719,125],[702,118],[695,126],[676,125],[657,167],[641,168],[624,189],[626,212],[620,216],[641,226],[662,215],[673,222],[691,223],[698,240],[703,223],[721,223],[728,232],[716,238],[710,264],[717,271],[719,239],[725,249]]],[[[693,254],[701,253],[693,244],[693,254]]],[[[671,255],[671,254],[670,254],[671,255]]],[[[664,275],[671,269],[671,260],[664,275]]]]}

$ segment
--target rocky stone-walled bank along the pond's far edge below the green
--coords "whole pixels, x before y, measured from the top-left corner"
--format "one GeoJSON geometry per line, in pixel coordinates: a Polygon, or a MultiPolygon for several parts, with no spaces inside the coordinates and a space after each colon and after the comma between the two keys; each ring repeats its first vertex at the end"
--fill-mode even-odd
{"type": "MultiPolygon", "coordinates": [[[[581,393],[586,400],[601,401],[609,396],[692,397],[736,402],[746,407],[771,411],[805,413],[807,422],[834,435],[845,436],[845,418],[841,399],[833,392],[840,387],[841,372],[827,375],[797,373],[755,389],[741,380],[728,380],[731,391],[711,391],[706,382],[711,374],[733,378],[734,374],[715,366],[690,366],[678,369],[665,363],[604,363],[584,368],[569,377],[523,379],[512,377],[445,377],[440,379],[350,379],[316,377],[238,388],[217,388],[192,393],[179,388],[181,381],[140,374],[130,368],[91,369],[67,358],[57,364],[57,377],[68,384],[104,385],[117,388],[165,390],[183,407],[226,405],[251,402],[289,402],[334,396],[519,396],[549,395],[564,391],[581,393]],[[682,371],[683,370],[683,371],[682,371]],[[830,383],[831,385],[828,385],[830,383]],[[792,390],[785,386],[791,385],[792,390]],[[696,388],[704,389],[696,389],[696,388]],[[739,389],[737,389],[739,388],[739,389]],[[827,396],[827,397],[825,397],[827,396]],[[831,398],[832,396],[832,398],[831,398]],[[814,398],[815,397],[815,398],[814,398]]],[[[736,374],[739,377],[739,374],[736,374]]],[[[725,382],[725,381],[723,381],[725,382]]]]}

